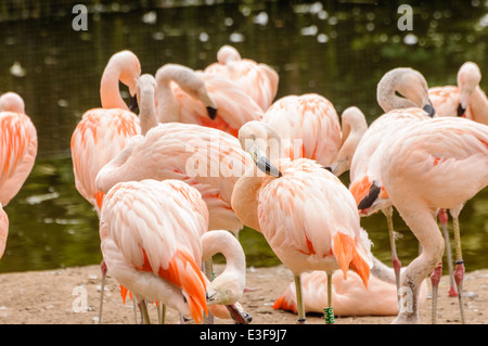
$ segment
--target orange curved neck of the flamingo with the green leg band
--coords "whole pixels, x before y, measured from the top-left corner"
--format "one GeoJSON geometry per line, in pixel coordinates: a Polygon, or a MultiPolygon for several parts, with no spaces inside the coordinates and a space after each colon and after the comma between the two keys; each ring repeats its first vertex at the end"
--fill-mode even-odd
{"type": "Polygon", "coordinates": [[[257,167],[253,165],[244,176],[239,178],[232,192],[232,209],[237,218],[247,227],[260,232],[258,218],[257,194],[265,177],[258,175],[257,167]]]}

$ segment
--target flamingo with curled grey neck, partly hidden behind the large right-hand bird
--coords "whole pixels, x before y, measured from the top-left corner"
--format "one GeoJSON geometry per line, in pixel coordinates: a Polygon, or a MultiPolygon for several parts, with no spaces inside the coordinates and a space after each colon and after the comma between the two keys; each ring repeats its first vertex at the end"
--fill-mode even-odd
{"type": "Polygon", "coordinates": [[[386,216],[391,262],[399,289],[401,264],[395,246],[391,203],[383,187],[380,171],[382,150],[388,148],[389,141],[399,131],[406,131],[409,125],[434,116],[435,110],[428,99],[425,78],[412,68],[395,68],[386,73],[377,85],[377,101],[385,114],[370,125],[357,145],[350,164],[349,191],[355,196],[362,216],[377,209],[386,216]],[[409,99],[396,95],[396,91],[409,99]]]}

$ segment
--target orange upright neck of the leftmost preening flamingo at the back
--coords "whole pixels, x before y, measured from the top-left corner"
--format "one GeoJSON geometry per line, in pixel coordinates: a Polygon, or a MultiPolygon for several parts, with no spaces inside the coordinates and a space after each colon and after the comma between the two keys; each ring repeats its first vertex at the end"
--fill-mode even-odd
{"type": "Polygon", "coordinates": [[[111,63],[108,63],[103,72],[102,80],[100,82],[100,100],[102,102],[102,107],[105,110],[121,108],[129,111],[118,88],[120,74],[120,67],[111,63]]]}

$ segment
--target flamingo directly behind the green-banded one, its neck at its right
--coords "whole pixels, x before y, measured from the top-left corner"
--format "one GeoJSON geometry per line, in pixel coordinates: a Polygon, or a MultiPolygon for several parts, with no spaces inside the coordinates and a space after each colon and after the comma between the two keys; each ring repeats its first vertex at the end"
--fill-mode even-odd
{"type": "Polygon", "coordinates": [[[348,168],[354,150],[368,128],[364,115],[357,107],[344,111],[342,120],[341,128],[334,105],[317,93],[281,98],[262,117],[280,136],[283,155],[332,165],[336,175],[348,168]]]}

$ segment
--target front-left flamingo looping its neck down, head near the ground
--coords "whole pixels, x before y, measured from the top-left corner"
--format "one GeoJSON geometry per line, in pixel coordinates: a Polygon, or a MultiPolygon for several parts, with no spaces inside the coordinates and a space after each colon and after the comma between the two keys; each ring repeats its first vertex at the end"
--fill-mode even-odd
{"type": "Polygon", "coordinates": [[[208,313],[206,296],[208,304],[233,311],[244,290],[244,253],[227,231],[206,233],[208,210],[196,189],[170,179],[117,183],[106,195],[100,225],[108,270],[134,294],[146,323],[145,299],[163,300],[197,324],[208,313]],[[228,265],[209,282],[202,258],[221,251],[228,265]]]}

